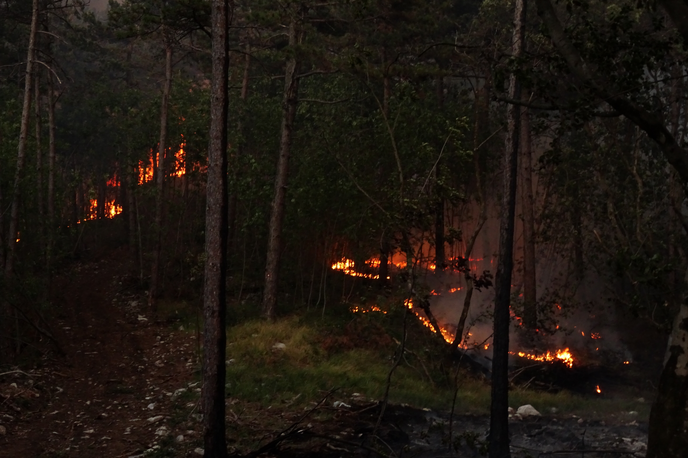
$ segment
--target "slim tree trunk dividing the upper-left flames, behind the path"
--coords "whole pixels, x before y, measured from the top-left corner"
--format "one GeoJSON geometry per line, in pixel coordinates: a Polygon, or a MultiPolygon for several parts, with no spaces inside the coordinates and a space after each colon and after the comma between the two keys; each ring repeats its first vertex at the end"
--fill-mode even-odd
{"type": "MultiPolygon", "coordinates": [[[[164,33],[166,34],[167,31],[164,33]]],[[[153,307],[155,307],[155,302],[160,295],[160,258],[162,256],[163,204],[165,202],[165,150],[167,149],[167,112],[171,86],[172,42],[170,37],[165,36],[165,84],[160,106],[160,142],[158,143],[157,191],[155,194],[155,219],[153,221],[155,247],[153,249],[153,267],[151,269],[151,283],[148,292],[148,304],[153,307]]]]}

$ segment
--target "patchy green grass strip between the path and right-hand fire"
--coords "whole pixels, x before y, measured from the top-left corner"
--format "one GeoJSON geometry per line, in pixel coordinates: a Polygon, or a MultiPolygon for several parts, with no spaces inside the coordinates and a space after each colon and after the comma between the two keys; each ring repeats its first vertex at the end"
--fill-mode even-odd
{"type": "MultiPolygon", "coordinates": [[[[292,316],[274,323],[252,319],[230,327],[227,396],[263,407],[311,405],[333,388],[338,390],[332,400],[347,402],[353,393],[371,401],[382,399],[396,349],[389,334],[394,335],[399,326],[398,317],[395,322],[390,315],[339,315],[330,321],[292,316]],[[284,344],[284,350],[273,348],[277,343],[284,344]]],[[[406,355],[392,376],[390,402],[451,408],[454,384],[440,367],[443,358],[436,343],[427,330],[410,326],[407,344],[413,354],[406,355]]],[[[488,413],[490,387],[485,381],[460,373],[458,387],[456,413],[488,413]]],[[[544,415],[556,408],[557,415],[588,419],[627,416],[642,420],[649,412],[649,403],[632,397],[601,399],[569,392],[512,390],[510,405],[523,404],[533,405],[544,415]],[[624,413],[628,411],[638,415],[624,413]]]]}

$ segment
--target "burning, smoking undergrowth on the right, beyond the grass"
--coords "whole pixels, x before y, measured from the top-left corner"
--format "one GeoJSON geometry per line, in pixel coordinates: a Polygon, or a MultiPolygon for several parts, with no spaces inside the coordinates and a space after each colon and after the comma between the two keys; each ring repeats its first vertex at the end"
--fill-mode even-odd
{"type": "MultiPolygon", "coordinates": [[[[332,264],[332,270],[361,281],[379,280],[375,274],[379,262],[377,258],[358,263],[342,258],[332,264]]],[[[406,263],[398,256],[393,258],[392,264],[392,271],[397,275],[407,275],[406,263]]],[[[491,371],[491,309],[494,302],[489,269],[493,264],[494,260],[460,258],[449,262],[449,268],[440,272],[430,262],[417,263],[414,274],[418,281],[412,294],[408,295],[410,297],[403,299],[403,305],[424,327],[441,336],[447,345],[456,348],[488,376],[491,371]],[[472,305],[462,317],[469,294],[472,297],[468,302],[472,299],[472,305]],[[457,336],[460,329],[463,332],[457,336]]],[[[510,365],[515,381],[533,384],[539,380],[534,385],[548,389],[577,385],[576,391],[599,394],[602,389],[599,383],[594,383],[595,380],[609,381],[607,372],[633,363],[632,356],[611,325],[613,317],[609,315],[612,312],[601,306],[600,301],[589,301],[585,307],[584,295],[571,299],[577,301],[576,306],[563,300],[543,300],[538,304],[538,327],[526,329],[521,319],[523,295],[518,287],[514,288],[513,296],[510,365]],[[525,376],[532,380],[523,380],[525,376]],[[567,379],[577,380],[577,383],[569,383],[567,379]]],[[[388,312],[374,303],[354,305],[350,311],[355,314],[388,312]]]]}

